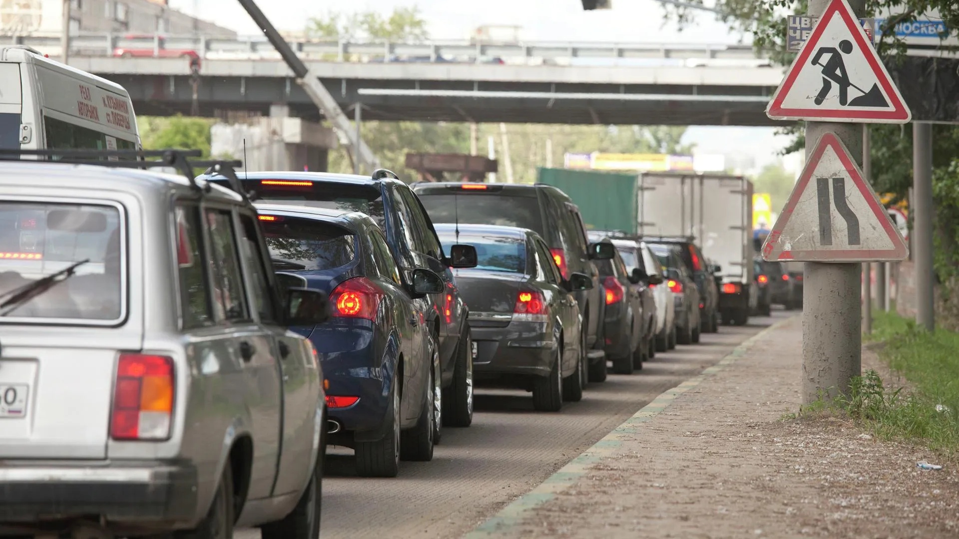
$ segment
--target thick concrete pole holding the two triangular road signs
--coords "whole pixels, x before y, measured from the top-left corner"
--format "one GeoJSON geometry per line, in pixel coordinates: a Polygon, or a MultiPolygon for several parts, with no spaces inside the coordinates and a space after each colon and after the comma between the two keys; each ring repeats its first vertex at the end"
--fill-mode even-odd
{"type": "MultiPolygon", "coordinates": [[[[808,14],[820,16],[829,4],[809,0],[808,14]]],[[[849,5],[855,16],[864,16],[865,0],[849,0],[849,5]]],[[[861,168],[858,124],[807,122],[807,159],[819,137],[828,132],[846,145],[861,168]]],[[[862,372],[862,264],[807,262],[803,273],[803,403],[809,404],[820,396],[832,398],[837,391],[848,391],[851,379],[862,372]]]]}

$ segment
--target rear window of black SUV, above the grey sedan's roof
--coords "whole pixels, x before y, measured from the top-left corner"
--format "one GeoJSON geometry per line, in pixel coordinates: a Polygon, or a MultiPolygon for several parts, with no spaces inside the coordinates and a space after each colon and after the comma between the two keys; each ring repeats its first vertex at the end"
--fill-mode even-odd
{"type": "Polygon", "coordinates": [[[500,224],[535,230],[544,235],[539,199],[491,193],[469,195],[417,194],[433,223],[500,224]]]}

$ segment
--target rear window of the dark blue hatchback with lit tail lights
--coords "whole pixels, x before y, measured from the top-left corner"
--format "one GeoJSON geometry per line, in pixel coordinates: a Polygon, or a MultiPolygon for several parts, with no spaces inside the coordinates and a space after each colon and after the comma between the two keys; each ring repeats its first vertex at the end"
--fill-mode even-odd
{"type": "Polygon", "coordinates": [[[281,216],[260,220],[273,269],[334,269],[356,259],[356,236],[335,224],[281,216]]]}

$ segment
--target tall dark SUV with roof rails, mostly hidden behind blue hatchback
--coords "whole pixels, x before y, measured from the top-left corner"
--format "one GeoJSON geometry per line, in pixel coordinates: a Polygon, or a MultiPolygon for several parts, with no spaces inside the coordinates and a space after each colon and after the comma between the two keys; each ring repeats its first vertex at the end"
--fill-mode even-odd
{"type": "MultiPolygon", "coordinates": [[[[223,176],[202,176],[229,187],[223,176]]],[[[358,211],[373,218],[386,233],[386,244],[409,287],[413,270],[431,269],[443,279],[445,292],[427,296],[430,310],[424,324],[439,343],[442,365],[443,425],[467,427],[473,421],[473,355],[468,308],[456,289],[452,268],[469,268],[476,253],[456,246],[444,254],[430,216],[393,173],[377,170],[372,176],[327,173],[262,172],[241,180],[248,196],[285,204],[358,211]]]]}

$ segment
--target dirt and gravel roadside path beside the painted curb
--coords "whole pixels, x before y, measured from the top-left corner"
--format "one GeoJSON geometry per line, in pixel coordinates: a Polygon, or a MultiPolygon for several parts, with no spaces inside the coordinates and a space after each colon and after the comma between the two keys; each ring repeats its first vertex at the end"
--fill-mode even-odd
{"type": "MultiPolygon", "coordinates": [[[[796,316],[496,536],[957,536],[959,462],[839,419],[782,419],[798,409],[801,349],[796,316]]],[[[863,363],[885,374],[872,353],[863,363]]]]}

